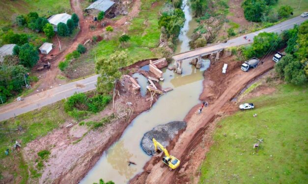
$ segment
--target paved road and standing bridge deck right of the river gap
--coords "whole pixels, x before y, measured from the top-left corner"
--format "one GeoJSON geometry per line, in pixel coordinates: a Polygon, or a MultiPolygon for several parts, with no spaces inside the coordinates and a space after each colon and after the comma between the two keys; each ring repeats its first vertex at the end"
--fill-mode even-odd
{"type": "Polygon", "coordinates": [[[245,40],[243,38],[243,36],[240,36],[240,37],[228,40],[226,43],[214,44],[212,46],[204,46],[204,47],[196,48],[194,50],[190,50],[190,51],[187,51],[187,52],[174,54],[172,56],[172,58],[174,60],[184,60],[184,59],[189,59],[189,58],[196,58],[196,57],[198,57],[199,55],[202,55],[202,54],[207,55],[207,54],[204,54],[204,53],[211,52],[213,50],[219,50],[219,49],[227,48],[227,47],[230,47],[230,46],[241,46],[241,45],[249,44],[250,42],[248,40],[250,39],[251,42],[253,42],[253,38],[256,35],[258,35],[259,33],[262,33],[262,32],[280,33],[283,30],[293,28],[294,24],[301,24],[306,20],[308,20],[308,17],[303,18],[303,17],[298,16],[298,17],[295,17],[293,19],[289,19],[287,21],[284,21],[282,23],[278,23],[274,26],[271,26],[271,27],[268,27],[268,28],[247,34],[246,35],[247,40],[245,40]]]}

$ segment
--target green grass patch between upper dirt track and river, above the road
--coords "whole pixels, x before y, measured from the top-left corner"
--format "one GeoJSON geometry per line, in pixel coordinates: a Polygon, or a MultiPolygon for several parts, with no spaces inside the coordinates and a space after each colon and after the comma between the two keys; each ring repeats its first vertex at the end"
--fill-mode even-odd
{"type": "MultiPolygon", "coordinates": [[[[159,4],[151,8],[151,3],[154,0],[143,0],[139,15],[134,18],[129,26],[128,35],[131,37],[126,48],[121,48],[118,41],[118,36],[110,41],[100,42],[92,52],[96,52],[97,59],[108,57],[115,50],[127,49],[129,57],[134,62],[156,57],[156,53],[152,52],[151,48],[156,48],[159,44],[160,29],[158,28],[158,12],[162,5],[162,0],[159,4]]],[[[120,35],[119,35],[120,36],[120,35]]],[[[94,54],[92,54],[94,55],[94,54]]]]}

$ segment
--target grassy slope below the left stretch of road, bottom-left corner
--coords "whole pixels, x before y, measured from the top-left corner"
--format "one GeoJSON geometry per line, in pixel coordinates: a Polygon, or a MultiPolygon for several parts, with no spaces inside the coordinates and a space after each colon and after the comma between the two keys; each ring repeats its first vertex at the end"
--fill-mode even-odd
{"type": "MultiPolygon", "coordinates": [[[[12,153],[10,149],[9,156],[4,155],[4,150],[13,146],[15,140],[21,142],[22,146],[37,137],[47,135],[59,125],[71,119],[64,113],[63,101],[56,102],[53,105],[43,107],[32,112],[18,115],[16,119],[1,121],[0,128],[16,129],[18,125],[23,128],[22,132],[13,131],[11,134],[0,134],[0,181],[3,172],[7,171],[14,176],[14,181],[17,183],[27,183],[28,181],[28,164],[23,160],[22,154],[12,153]],[[18,165],[18,166],[17,166],[18,165]]],[[[1,133],[7,132],[1,130],[1,133]]],[[[34,153],[36,154],[36,153],[34,153]]],[[[31,173],[31,177],[33,173],[31,173]]],[[[39,175],[36,175],[38,177],[39,175]]]]}

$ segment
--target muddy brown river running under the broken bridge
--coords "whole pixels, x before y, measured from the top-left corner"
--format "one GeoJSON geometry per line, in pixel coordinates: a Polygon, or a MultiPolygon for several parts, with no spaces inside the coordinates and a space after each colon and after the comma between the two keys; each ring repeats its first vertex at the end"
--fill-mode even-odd
{"type": "MultiPolygon", "coordinates": [[[[185,4],[187,0],[183,0],[185,4]]],[[[179,43],[176,52],[189,50],[190,36],[196,27],[196,21],[189,5],[184,8],[186,22],[179,35],[179,43]]],[[[202,91],[203,71],[210,65],[209,61],[203,63],[201,69],[189,65],[189,61],[183,61],[183,73],[173,73],[163,69],[163,88],[171,87],[173,91],[162,95],[153,105],[152,109],[143,112],[136,117],[123,133],[122,137],[105,151],[95,166],[81,181],[81,184],[92,184],[103,179],[105,182],[112,180],[115,184],[125,184],[135,175],[143,171],[144,164],[150,160],[141,147],[140,141],[144,133],[155,126],[170,121],[182,121],[187,113],[200,103],[198,97],[202,91]],[[128,165],[133,161],[137,165],[128,165]]],[[[137,76],[136,77],[140,77],[137,76]]],[[[140,82],[143,80],[140,77],[140,82]]],[[[145,81],[141,82],[145,84],[145,81]]],[[[142,91],[143,93],[143,91],[142,91]]]]}

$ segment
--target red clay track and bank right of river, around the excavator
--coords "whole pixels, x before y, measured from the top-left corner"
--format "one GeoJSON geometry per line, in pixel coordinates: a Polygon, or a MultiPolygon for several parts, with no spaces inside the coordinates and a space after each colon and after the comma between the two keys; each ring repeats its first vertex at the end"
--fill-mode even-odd
{"type": "MultiPolygon", "coordinates": [[[[272,69],[274,64],[271,57],[268,57],[263,65],[260,63],[257,68],[244,72],[240,69],[240,62],[235,62],[227,57],[211,65],[204,72],[204,89],[199,97],[200,100],[208,101],[209,106],[204,108],[201,114],[197,113],[200,104],[189,112],[184,119],[187,122],[186,130],[177,140],[174,139],[175,146],[172,149],[169,148],[170,155],[181,160],[181,165],[176,170],[169,171],[167,166],[161,167],[160,162],[156,163],[157,159],[153,158],[145,165],[144,172],[132,179],[130,183],[173,184],[176,177],[180,175],[179,172],[185,172],[186,156],[202,140],[209,124],[225,112],[232,112],[232,109],[236,109],[236,105],[230,100],[254,78],[272,69]],[[226,74],[222,73],[224,63],[228,64],[226,74]]],[[[179,183],[183,184],[183,181],[179,181],[179,183]]]]}

